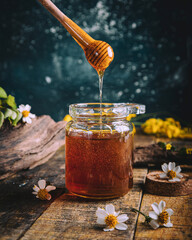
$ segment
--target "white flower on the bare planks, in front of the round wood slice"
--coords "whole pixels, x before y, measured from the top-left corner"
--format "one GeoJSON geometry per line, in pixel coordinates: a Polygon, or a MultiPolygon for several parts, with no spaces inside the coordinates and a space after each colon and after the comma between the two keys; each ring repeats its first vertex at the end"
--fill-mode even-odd
{"type": "Polygon", "coordinates": [[[173,224],[170,222],[170,216],[173,214],[173,210],[165,208],[166,203],[161,201],[159,205],[155,202],[151,205],[154,211],[149,212],[149,217],[152,220],[149,222],[152,228],[157,229],[160,225],[165,227],[172,227],[173,224]]]}

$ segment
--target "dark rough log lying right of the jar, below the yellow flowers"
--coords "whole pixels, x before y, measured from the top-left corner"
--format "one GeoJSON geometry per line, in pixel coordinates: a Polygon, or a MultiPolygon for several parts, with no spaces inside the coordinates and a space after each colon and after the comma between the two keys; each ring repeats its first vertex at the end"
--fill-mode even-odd
{"type": "MultiPolygon", "coordinates": [[[[185,142],[183,142],[185,146],[185,142]]],[[[154,164],[156,167],[163,163],[176,162],[177,164],[192,164],[192,154],[180,155],[176,151],[166,151],[158,144],[136,147],[134,150],[134,167],[146,167],[154,164]]]]}

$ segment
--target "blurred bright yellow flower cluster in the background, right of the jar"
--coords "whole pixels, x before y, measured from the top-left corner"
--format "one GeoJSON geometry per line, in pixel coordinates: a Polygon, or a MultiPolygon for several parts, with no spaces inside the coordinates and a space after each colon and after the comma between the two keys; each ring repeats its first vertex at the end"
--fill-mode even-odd
{"type": "Polygon", "coordinates": [[[150,118],[141,128],[146,134],[153,134],[157,137],[168,138],[192,138],[192,133],[186,133],[184,129],[181,129],[181,124],[175,121],[173,118],[166,118],[162,120],[160,118],[150,118]]]}

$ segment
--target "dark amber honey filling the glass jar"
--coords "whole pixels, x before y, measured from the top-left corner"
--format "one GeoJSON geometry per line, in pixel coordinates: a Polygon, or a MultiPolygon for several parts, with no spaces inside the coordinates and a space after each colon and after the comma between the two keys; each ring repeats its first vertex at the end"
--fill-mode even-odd
{"type": "Polygon", "coordinates": [[[115,198],[133,182],[133,137],[129,132],[66,132],[66,188],[88,198],[115,198]]]}

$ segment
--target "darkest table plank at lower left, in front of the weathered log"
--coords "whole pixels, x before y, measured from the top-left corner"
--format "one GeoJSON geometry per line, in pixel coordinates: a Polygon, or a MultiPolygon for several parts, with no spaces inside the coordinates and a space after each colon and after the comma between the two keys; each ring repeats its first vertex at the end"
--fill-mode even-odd
{"type": "MultiPolygon", "coordinates": [[[[0,239],[19,239],[36,219],[64,191],[64,150],[60,149],[44,165],[20,171],[0,181],[0,239]],[[41,201],[32,195],[39,179],[57,186],[50,192],[51,201],[41,201]]],[[[34,238],[35,239],[35,238],[34,238]]]]}

